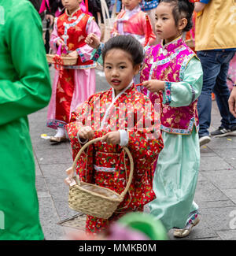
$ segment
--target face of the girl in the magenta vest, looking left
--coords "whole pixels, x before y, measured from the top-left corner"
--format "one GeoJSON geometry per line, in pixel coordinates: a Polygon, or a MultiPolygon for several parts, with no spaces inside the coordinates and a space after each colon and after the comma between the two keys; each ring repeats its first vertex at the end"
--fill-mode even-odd
{"type": "Polygon", "coordinates": [[[160,2],[157,6],[155,19],[155,31],[160,39],[165,40],[165,43],[169,43],[181,35],[182,31],[176,27],[172,8],[167,2],[160,2]]]}

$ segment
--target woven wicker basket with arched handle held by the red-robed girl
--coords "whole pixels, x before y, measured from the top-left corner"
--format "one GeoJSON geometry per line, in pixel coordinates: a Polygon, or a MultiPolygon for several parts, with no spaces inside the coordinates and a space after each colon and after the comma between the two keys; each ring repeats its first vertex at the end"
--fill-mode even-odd
{"type": "MultiPolygon", "coordinates": [[[[72,170],[74,173],[76,170],[76,162],[82,154],[83,150],[90,146],[90,144],[95,143],[101,139],[102,137],[92,139],[79,150],[79,153],[77,154],[72,165],[72,170]]],[[[112,213],[116,210],[117,206],[119,206],[120,202],[124,200],[124,196],[126,195],[131,185],[134,171],[134,162],[131,156],[131,152],[127,147],[123,148],[131,162],[131,171],[127,181],[127,186],[125,187],[124,191],[121,194],[118,194],[109,188],[99,187],[98,185],[82,182],[79,180],[79,176],[76,175],[74,176],[76,185],[70,187],[68,196],[68,206],[72,208],[72,210],[103,219],[108,219],[112,216],[112,213]]]]}

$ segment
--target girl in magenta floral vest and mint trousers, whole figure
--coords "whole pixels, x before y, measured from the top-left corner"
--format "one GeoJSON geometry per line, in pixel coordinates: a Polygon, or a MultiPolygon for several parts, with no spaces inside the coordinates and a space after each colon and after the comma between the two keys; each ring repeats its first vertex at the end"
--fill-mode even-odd
{"type": "Polygon", "coordinates": [[[162,42],[148,46],[142,69],[142,91],[161,109],[164,149],[153,180],[156,199],[150,213],[174,236],[188,236],[199,222],[194,202],[200,165],[197,97],[201,94],[201,62],[184,43],[183,32],[192,27],[194,3],[161,0],[156,9],[157,35],[162,42]]]}

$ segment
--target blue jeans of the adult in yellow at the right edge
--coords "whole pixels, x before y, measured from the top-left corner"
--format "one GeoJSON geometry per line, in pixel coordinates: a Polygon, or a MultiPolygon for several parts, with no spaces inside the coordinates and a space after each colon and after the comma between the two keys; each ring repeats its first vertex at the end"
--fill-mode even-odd
{"type": "Polygon", "coordinates": [[[230,113],[228,106],[230,90],[227,87],[227,73],[234,53],[233,50],[201,50],[197,52],[203,69],[202,91],[197,102],[199,137],[209,135],[212,92],[216,95],[217,106],[222,117],[221,126],[229,129],[236,124],[236,118],[230,113]]]}

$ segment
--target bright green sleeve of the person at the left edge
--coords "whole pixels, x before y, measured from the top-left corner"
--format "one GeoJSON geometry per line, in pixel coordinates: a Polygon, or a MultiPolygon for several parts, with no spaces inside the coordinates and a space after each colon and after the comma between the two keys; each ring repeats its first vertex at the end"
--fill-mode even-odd
{"type": "Polygon", "coordinates": [[[19,2],[5,14],[0,25],[0,126],[42,109],[51,95],[39,14],[30,2],[19,2]]]}

